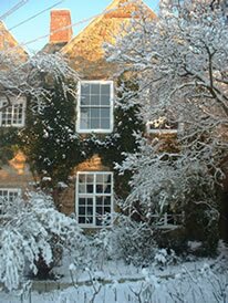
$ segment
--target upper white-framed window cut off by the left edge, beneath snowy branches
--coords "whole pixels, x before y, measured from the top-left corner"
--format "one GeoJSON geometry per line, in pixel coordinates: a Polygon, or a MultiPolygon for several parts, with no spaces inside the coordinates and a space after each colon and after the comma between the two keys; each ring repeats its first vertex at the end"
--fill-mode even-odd
{"type": "Polygon", "coordinates": [[[12,100],[8,105],[6,97],[0,98],[0,126],[22,127],[25,121],[25,98],[12,100]]]}

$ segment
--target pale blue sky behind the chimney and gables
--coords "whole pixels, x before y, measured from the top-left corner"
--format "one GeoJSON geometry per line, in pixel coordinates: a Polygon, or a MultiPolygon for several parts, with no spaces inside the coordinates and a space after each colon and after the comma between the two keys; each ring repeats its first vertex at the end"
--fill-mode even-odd
{"type": "MultiPolygon", "coordinates": [[[[3,22],[8,29],[17,25],[21,21],[32,17],[33,14],[54,6],[61,0],[24,0],[24,6],[7,17],[3,22]]],[[[12,7],[20,3],[21,0],[1,0],[0,1],[0,15],[4,14],[12,7]]],[[[76,23],[83,19],[93,17],[101,13],[112,0],[62,0],[62,3],[56,6],[56,9],[70,9],[72,23],[76,23]]],[[[158,0],[144,0],[155,12],[158,10],[158,0]]],[[[74,27],[74,35],[81,31],[86,23],[80,27],[74,27]]],[[[50,27],[50,11],[45,11],[35,19],[13,29],[11,32],[19,43],[24,43],[34,40],[39,36],[49,33],[50,27]]],[[[29,52],[38,51],[48,43],[48,38],[40,39],[34,43],[27,45],[29,52]]]]}

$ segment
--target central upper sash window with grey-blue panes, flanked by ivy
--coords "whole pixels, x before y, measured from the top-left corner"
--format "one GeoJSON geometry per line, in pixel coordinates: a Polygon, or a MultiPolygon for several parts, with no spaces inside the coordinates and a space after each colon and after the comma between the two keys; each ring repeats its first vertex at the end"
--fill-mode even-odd
{"type": "Polygon", "coordinates": [[[111,133],[113,130],[113,82],[82,81],[79,87],[79,133],[111,133]]]}

